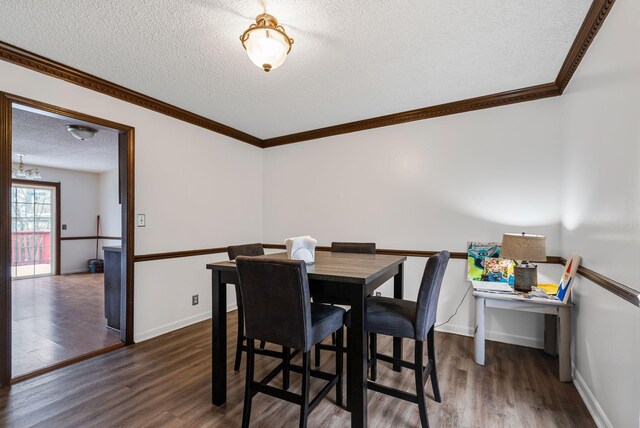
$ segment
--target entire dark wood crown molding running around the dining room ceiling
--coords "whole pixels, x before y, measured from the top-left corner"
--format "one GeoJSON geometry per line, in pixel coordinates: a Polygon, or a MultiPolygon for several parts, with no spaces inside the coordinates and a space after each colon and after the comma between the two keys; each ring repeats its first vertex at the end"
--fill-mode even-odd
{"type": "Polygon", "coordinates": [[[589,11],[565,57],[558,76],[552,83],[514,89],[497,94],[469,98],[267,139],[260,139],[238,129],[231,128],[2,41],[0,41],[0,59],[165,114],[256,147],[269,148],[334,135],[359,132],[367,129],[398,125],[416,120],[431,119],[434,117],[560,96],[571,81],[582,58],[602,27],[614,3],[615,0],[594,0],[591,3],[589,11]]]}

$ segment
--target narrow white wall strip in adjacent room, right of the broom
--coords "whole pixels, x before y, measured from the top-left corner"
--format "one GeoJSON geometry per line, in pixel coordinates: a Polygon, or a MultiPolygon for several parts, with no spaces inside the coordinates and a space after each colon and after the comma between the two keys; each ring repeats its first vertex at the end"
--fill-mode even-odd
{"type": "MultiPolygon", "coordinates": [[[[118,170],[103,172],[98,175],[100,214],[100,236],[119,237],[122,235],[122,205],[119,201],[118,170]]],[[[120,246],[121,242],[113,239],[100,241],[100,252],[103,246],[120,246]]],[[[104,255],[102,256],[104,258],[104,255]]]]}

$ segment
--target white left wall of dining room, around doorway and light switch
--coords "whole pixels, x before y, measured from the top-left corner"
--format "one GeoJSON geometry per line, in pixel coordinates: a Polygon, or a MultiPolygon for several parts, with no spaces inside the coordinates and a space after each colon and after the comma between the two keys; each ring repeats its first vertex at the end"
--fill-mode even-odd
{"type": "MultiPolygon", "coordinates": [[[[260,149],[4,61],[0,90],[135,128],[135,211],[147,215],[135,254],[262,240],[260,149]]],[[[210,298],[192,307],[191,295],[206,293],[212,259],[136,263],[135,340],[209,316],[210,298]]]]}

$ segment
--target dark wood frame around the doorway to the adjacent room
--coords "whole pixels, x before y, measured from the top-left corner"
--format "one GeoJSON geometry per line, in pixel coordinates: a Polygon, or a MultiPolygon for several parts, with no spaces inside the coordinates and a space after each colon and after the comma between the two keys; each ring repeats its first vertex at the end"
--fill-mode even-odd
{"type": "Polygon", "coordinates": [[[84,113],[0,92],[0,386],[11,383],[11,114],[13,104],[95,123],[119,131],[122,212],[122,310],[120,338],[133,343],[134,128],[84,113]]]}

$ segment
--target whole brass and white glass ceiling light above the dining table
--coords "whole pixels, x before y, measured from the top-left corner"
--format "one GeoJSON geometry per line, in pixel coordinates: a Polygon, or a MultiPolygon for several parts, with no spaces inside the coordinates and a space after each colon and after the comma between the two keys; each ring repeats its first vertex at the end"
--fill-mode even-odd
{"type": "Polygon", "coordinates": [[[240,41],[249,59],[266,72],[280,67],[293,45],[293,39],[287,36],[284,28],[278,25],[278,20],[269,15],[266,9],[256,16],[256,23],[242,33],[240,41]]]}

